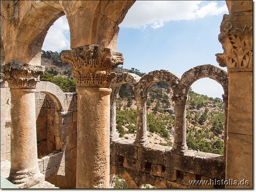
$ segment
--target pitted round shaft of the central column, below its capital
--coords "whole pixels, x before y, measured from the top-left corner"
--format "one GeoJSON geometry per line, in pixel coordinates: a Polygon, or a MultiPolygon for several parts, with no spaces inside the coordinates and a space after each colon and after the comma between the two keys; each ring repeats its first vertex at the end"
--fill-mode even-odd
{"type": "Polygon", "coordinates": [[[109,188],[109,88],[77,87],[76,188],[109,188]]]}

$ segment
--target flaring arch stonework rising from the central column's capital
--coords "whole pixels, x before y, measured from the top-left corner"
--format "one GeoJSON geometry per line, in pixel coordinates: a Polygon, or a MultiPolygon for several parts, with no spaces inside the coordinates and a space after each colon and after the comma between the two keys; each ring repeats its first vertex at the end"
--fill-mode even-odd
{"type": "Polygon", "coordinates": [[[134,2],[60,1],[70,26],[70,48],[98,44],[116,51],[118,25],[134,2]]]}

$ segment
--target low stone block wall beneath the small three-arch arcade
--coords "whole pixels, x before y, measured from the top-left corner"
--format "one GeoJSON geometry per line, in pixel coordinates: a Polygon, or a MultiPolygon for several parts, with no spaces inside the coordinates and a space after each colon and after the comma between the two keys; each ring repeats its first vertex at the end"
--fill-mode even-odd
{"type": "Polygon", "coordinates": [[[184,155],[172,147],[147,144],[135,146],[134,140],[110,142],[110,176],[120,175],[128,188],[151,184],[156,188],[225,188],[222,185],[190,185],[189,180],[225,179],[223,156],[188,150],[184,155]]]}

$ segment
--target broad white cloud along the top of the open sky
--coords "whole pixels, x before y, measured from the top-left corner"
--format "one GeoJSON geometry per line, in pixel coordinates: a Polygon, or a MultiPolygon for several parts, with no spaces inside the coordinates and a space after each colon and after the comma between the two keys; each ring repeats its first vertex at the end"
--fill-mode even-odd
{"type": "MultiPolygon", "coordinates": [[[[226,4],[218,6],[210,2],[200,6],[202,1],[136,1],[127,12],[124,21],[119,25],[124,28],[145,29],[164,26],[171,20],[191,20],[206,15],[228,13],[226,4]],[[152,25],[153,24],[153,25],[152,25]]],[[[207,1],[206,1],[207,2],[207,1]]]]}

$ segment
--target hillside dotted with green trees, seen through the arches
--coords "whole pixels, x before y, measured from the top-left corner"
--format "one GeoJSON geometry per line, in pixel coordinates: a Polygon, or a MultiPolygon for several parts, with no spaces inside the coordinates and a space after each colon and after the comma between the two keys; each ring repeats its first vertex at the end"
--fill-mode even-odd
{"type": "MultiPolygon", "coordinates": [[[[76,92],[72,67],[60,60],[60,53],[42,51],[41,64],[45,66],[41,81],[57,84],[63,92],[76,92]]],[[[116,73],[130,72],[139,76],[138,69],[117,67],[116,73]]],[[[147,129],[151,143],[172,146],[174,135],[175,105],[171,100],[172,89],[165,82],[151,87],[147,100],[147,129]]],[[[123,84],[116,102],[116,129],[125,139],[136,137],[136,101],[129,84],[123,84]]],[[[224,103],[220,98],[198,94],[192,89],[186,105],[186,132],[189,149],[223,155],[224,103]]]]}

